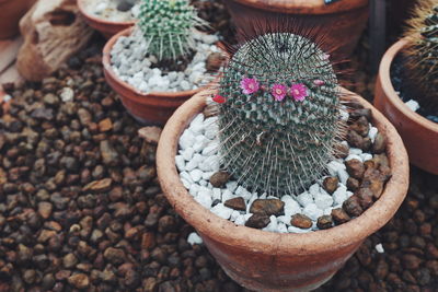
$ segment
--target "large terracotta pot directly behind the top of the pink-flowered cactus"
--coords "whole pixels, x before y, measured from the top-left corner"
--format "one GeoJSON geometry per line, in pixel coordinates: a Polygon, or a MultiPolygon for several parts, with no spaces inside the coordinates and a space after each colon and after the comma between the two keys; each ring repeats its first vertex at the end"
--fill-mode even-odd
{"type": "Polygon", "coordinates": [[[348,57],[359,40],[368,20],[368,0],[224,0],[237,27],[246,35],[254,25],[273,23],[283,17],[299,21],[302,27],[320,27],[325,34],[322,48],[336,59],[348,57]]]}

